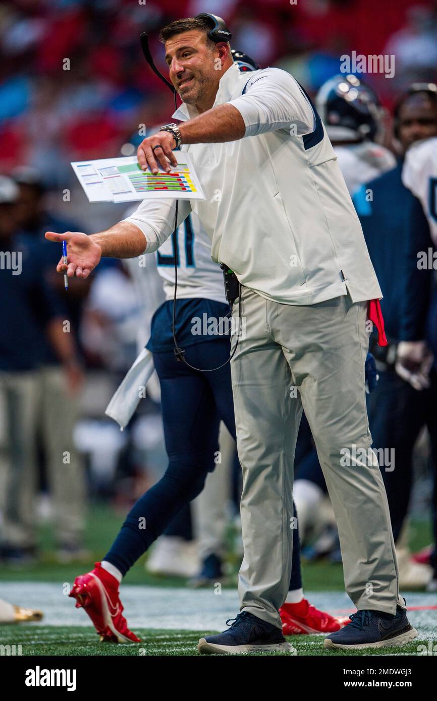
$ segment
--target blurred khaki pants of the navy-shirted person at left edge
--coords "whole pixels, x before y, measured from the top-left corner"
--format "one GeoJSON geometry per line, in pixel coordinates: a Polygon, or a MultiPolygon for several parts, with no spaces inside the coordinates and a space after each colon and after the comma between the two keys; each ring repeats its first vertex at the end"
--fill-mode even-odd
{"type": "Polygon", "coordinates": [[[43,447],[58,543],[76,543],[83,531],[83,464],[72,432],[77,400],[67,396],[60,367],[0,373],[4,435],[0,449],[1,538],[15,547],[36,540],[36,438],[43,447]]]}

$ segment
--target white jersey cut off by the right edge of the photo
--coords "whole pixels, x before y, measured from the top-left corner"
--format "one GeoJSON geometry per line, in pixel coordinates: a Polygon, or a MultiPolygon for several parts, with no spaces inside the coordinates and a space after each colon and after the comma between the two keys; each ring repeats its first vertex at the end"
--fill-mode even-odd
{"type": "Polygon", "coordinates": [[[422,203],[437,245],[437,137],[410,146],[403,163],[402,182],[422,203]]]}

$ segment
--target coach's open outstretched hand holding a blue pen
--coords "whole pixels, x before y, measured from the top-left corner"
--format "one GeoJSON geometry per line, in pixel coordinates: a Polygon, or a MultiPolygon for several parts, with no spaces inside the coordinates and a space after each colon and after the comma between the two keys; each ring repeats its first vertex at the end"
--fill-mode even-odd
{"type": "Polygon", "coordinates": [[[65,231],[65,233],[55,233],[54,231],[46,231],[46,239],[61,243],[67,241],[67,261],[62,260],[62,257],[56,266],[58,273],[65,273],[69,278],[88,278],[91,271],[98,266],[102,249],[93,241],[90,236],[80,231],[65,231]]]}

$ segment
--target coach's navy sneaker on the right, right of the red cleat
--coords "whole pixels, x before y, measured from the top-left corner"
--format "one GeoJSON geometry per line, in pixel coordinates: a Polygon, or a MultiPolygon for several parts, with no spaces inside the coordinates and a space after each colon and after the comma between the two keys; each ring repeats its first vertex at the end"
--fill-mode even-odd
{"type": "Polygon", "coordinates": [[[417,630],[410,625],[405,608],[397,606],[396,615],[383,611],[357,611],[349,616],[351,622],[344,628],[325,638],[325,648],[401,647],[417,636],[417,630]]]}

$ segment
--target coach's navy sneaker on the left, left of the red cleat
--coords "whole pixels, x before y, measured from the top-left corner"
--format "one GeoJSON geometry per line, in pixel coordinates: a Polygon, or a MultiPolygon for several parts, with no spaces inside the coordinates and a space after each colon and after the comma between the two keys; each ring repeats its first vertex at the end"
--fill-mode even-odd
{"type": "Polygon", "coordinates": [[[218,635],[201,638],[197,649],[201,655],[238,655],[239,653],[290,652],[295,648],[285,641],[281,628],[256,615],[243,611],[229,618],[232,625],[218,635]]]}

